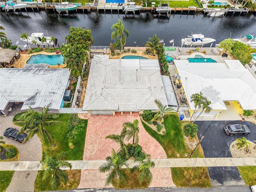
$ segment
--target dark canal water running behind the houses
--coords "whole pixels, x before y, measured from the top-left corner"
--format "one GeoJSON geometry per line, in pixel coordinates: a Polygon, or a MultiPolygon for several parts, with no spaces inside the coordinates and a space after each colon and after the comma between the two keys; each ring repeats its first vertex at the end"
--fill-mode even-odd
{"type": "MultiPolygon", "coordinates": [[[[192,15],[172,14],[170,18],[160,17],[151,13],[140,13],[135,16],[122,14],[104,14],[92,12],[91,14],[72,14],[71,16],[54,13],[21,12],[6,14],[1,10],[1,25],[5,28],[8,39],[15,44],[19,40],[20,45],[25,42],[20,40],[23,32],[48,32],[49,36],[58,39],[58,43],[64,42],[70,27],[85,27],[92,31],[94,46],[109,46],[111,40],[111,26],[120,18],[124,27],[130,32],[126,40],[126,46],[143,46],[149,37],[156,34],[163,39],[166,46],[171,46],[170,40],[174,39],[174,46],[181,46],[181,39],[190,34],[204,34],[205,37],[214,38],[218,44],[226,38],[239,38],[241,35],[256,34],[256,16],[247,14],[244,16],[224,16],[223,18],[210,18],[202,13],[192,15]]],[[[214,45],[213,44],[213,45],[214,45]]],[[[210,44],[204,45],[210,46],[210,44]]]]}

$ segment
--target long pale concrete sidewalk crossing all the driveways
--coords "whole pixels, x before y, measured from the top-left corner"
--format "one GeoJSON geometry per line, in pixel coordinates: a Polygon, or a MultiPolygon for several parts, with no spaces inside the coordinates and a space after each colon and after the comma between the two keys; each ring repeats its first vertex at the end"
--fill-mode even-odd
{"type": "MultiPolygon", "coordinates": [[[[256,158],[176,158],[176,159],[152,159],[155,168],[166,167],[232,167],[232,166],[256,166],[256,158]]],[[[72,169],[98,169],[105,160],[68,161],[72,169]]],[[[129,167],[133,167],[134,161],[128,160],[129,167]]],[[[41,170],[39,161],[0,162],[0,170],[28,171],[41,170]]],[[[68,170],[68,168],[66,168],[68,170]]]]}

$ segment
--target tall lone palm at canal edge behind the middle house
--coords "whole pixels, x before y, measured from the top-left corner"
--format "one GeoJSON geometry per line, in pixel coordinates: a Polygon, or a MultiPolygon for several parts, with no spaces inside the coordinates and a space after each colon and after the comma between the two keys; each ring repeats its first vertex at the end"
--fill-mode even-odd
{"type": "Polygon", "coordinates": [[[126,44],[126,37],[129,36],[129,32],[124,28],[124,24],[120,19],[118,19],[118,23],[113,24],[111,28],[115,29],[115,31],[111,33],[111,39],[115,39],[120,36],[121,51],[123,52],[123,48],[126,44]]]}

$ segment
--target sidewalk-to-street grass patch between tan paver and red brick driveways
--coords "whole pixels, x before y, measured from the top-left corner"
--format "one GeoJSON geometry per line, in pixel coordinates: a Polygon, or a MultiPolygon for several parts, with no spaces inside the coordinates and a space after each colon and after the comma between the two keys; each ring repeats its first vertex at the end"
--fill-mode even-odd
{"type": "Polygon", "coordinates": [[[76,189],[80,183],[81,170],[65,170],[65,172],[68,174],[70,181],[68,181],[66,185],[63,182],[61,182],[58,188],[53,189],[50,187],[51,176],[49,176],[45,180],[42,180],[44,171],[38,171],[38,174],[36,176],[36,181],[34,184],[34,191],[52,191],[52,190],[59,191],[59,190],[76,189]]]}

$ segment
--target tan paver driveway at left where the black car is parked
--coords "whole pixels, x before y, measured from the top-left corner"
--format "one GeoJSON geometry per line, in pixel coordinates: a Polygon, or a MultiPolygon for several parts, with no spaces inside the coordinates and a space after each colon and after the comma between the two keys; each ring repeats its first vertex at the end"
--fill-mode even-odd
{"type": "MultiPolygon", "coordinates": [[[[9,127],[17,128],[12,123],[13,116],[0,117],[0,135],[3,136],[4,130],[9,127]]],[[[6,144],[15,145],[20,151],[20,161],[40,161],[42,159],[42,145],[39,138],[35,135],[32,139],[28,140],[25,144],[18,143],[12,139],[5,138],[6,144]]],[[[16,171],[12,177],[12,181],[7,188],[6,192],[14,191],[34,191],[34,182],[38,171],[16,171]]]]}

